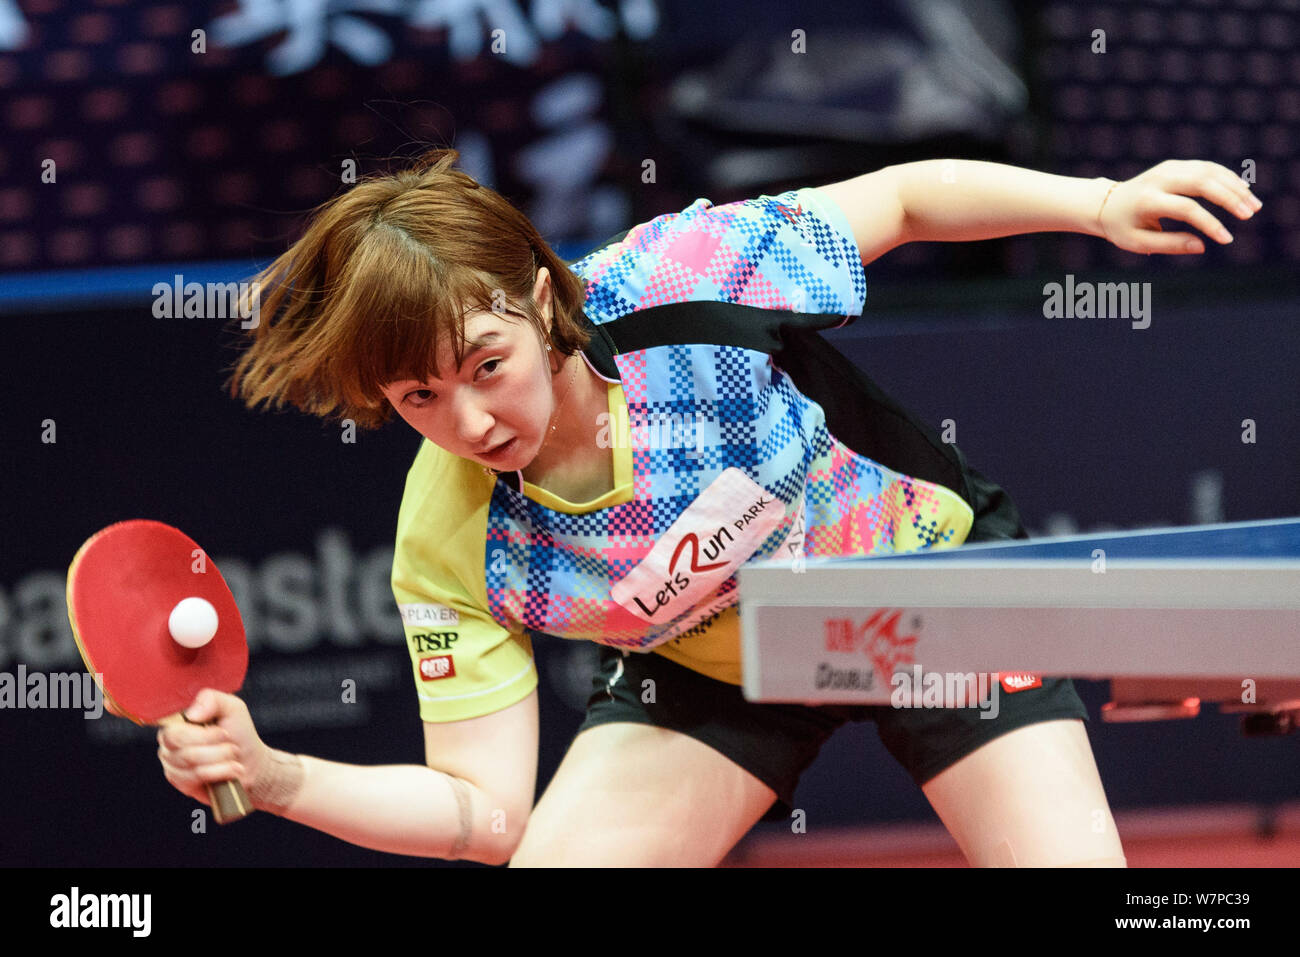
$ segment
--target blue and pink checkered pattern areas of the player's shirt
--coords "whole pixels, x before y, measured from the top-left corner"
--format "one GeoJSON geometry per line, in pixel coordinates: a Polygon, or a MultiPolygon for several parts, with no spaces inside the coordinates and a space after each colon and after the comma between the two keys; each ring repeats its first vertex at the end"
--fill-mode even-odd
{"type": "MultiPolygon", "coordinates": [[[[716,300],[854,316],[866,280],[852,235],[812,212],[809,195],[712,207],[630,230],[573,265],[595,324],[663,303],[716,300]]],[[[935,486],[846,449],[822,408],[759,351],[664,345],[615,356],[633,423],[675,413],[702,423],[692,449],[633,447],[633,499],[586,515],[542,506],[499,482],[488,519],[488,598],[494,618],[545,635],[651,648],[694,624],[690,612],[649,625],[610,597],[681,512],[736,467],[785,506],[785,521],[749,560],[775,558],[805,498],[805,554],[862,555],[928,547],[935,486]],[[494,560],[499,557],[504,560],[494,560]]],[[[734,576],[701,602],[736,601],[734,576]]]]}

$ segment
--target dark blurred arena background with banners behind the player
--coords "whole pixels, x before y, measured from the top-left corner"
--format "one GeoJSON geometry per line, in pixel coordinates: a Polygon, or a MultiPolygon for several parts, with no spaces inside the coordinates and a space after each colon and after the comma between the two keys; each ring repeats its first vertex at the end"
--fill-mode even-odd
{"type": "MultiPolygon", "coordinates": [[[[1115,179],[1219,163],[1265,203],[1227,222],[1226,248],[904,246],[828,338],[936,428],[952,420],[1034,534],[1300,515],[1294,0],[0,0],[0,671],[79,671],[68,563],[103,525],[153,518],[230,581],[270,744],[422,761],[387,581],[419,436],[346,442],[244,412],[221,391],[226,324],[156,317],[152,290],[250,277],[348,170],[433,146],[569,260],[701,196],[913,160],[1115,179]],[[1067,274],[1150,282],[1150,328],[1045,319],[1044,285],[1067,274]]],[[[543,787],[594,650],[536,650],[543,787]]],[[[1243,737],[1213,709],[1102,724],[1106,685],[1080,690],[1132,862],[1190,862],[1161,854],[1196,835],[1217,835],[1212,862],[1300,861],[1295,736],[1243,737]]],[[[9,707],[0,742],[3,865],[458,866],[269,815],[192,833],[152,732],[122,720],[9,707]]],[[[807,835],[759,826],[732,862],[961,861],[870,726],[837,733],[797,798],[807,835]]]]}

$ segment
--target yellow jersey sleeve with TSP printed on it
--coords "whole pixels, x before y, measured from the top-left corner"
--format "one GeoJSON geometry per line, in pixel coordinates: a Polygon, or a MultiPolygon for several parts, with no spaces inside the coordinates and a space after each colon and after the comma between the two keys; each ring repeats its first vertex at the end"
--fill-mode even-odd
{"type": "Polygon", "coordinates": [[[426,722],[481,718],[537,687],[532,641],[488,611],[484,571],[491,482],[424,442],[407,473],[393,597],[426,722]]]}

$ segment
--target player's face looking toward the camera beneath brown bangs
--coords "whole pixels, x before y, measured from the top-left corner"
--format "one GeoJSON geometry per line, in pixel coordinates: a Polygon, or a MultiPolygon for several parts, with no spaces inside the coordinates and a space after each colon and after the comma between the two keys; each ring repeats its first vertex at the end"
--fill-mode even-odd
{"type": "Polygon", "coordinates": [[[524,319],[465,319],[465,358],[438,345],[438,374],[389,382],[384,394],[416,432],[452,455],[499,472],[525,468],[542,447],[554,408],[546,346],[524,319]]]}

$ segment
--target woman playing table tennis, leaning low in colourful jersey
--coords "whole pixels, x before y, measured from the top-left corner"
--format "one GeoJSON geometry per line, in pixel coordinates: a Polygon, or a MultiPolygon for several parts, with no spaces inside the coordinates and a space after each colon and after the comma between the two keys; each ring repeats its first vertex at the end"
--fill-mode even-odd
{"type": "Polygon", "coordinates": [[[263,321],[231,378],[250,407],[363,426],[395,411],[428,439],[393,567],[428,766],[286,754],[238,698],[204,692],[190,716],[218,724],[160,732],[168,780],[202,801],[203,781],[238,776],[259,807],[387,852],[714,865],[754,822],[789,817],[838,724],[874,720],[971,863],[1122,866],[1069,681],[1004,692],[993,720],[746,702],[733,566],[1024,537],[998,486],[816,335],[862,312],[864,264],[1046,230],[1202,252],[1158,220],[1230,242],[1192,198],[1245,218],[1260,208],[1245,183],[1202,161],[1124,182],[911,163],[699,199],[567,265],[455,159],[321,208],[259,277],[263,321]],[[677,417],[651,436],[654,413],[677,417]],[[734,514],[753,531],[686,547],[734,514]],[[555,637],[601,644],[601,666],[533,807],[530,642],[555,637]]]}

